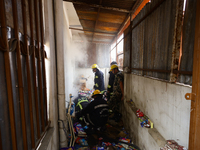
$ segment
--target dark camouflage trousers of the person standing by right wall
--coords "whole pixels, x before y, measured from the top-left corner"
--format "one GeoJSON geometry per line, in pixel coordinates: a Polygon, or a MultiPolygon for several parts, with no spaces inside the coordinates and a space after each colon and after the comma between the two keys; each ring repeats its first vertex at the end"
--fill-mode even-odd
{"type": "Polygon", "coordinates": [[[108,106],[113,112],[119,112],[120,105],[122,103],[121,98],[122,94],[113,94],[108,101],[108,106]]]}

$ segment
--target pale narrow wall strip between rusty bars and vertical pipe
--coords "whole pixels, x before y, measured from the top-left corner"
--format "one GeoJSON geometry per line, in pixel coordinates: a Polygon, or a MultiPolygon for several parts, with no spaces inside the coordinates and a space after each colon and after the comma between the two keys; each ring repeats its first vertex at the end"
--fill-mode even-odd
{"type": "Polygon", "coordinates": [[[51,149],[59,149],[58,137],[58,106],[57,106],[57,83],[56,83],[56,60],[55,60],[55,38],[52,1],[44,0],[44,25],[45,25],[45,50],[47,53],[46,77],[47,77],[47,101],[48,114],[51,121],[50,127],[54,128],[51,138],[51,149]]]}

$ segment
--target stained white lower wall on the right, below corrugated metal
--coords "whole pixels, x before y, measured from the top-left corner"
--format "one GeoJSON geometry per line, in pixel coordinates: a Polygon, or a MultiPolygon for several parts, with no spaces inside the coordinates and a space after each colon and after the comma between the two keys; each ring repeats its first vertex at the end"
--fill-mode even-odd
{"type": "MultiPolygon", "coordinates": [[[[173,139],[188,147],[191,102],[184,96],[191,92],[191,87],[133,74],[125,74],[124,83],[125,101],[132,99],[166,140],[173,139]]],[[[135,144],[143,150],[159,150],[148,130],[140,127],[137,117],[124,103],[124,124],[129,128],[131,137],[135,138],[135,144]]]]}

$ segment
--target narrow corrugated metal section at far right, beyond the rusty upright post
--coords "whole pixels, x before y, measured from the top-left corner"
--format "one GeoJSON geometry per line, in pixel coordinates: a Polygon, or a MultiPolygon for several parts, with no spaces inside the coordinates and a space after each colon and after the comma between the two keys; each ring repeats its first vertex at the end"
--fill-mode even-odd
{"type": "MultiPolygon", "coordinates": [[[[193,70],[193,50],[195,37],[196,0],[187,0],[183,22],[183,48],[180,70],[193,70]]],[[[179,82],[192,85],[191,75],[180,75],[179,82]]]]}

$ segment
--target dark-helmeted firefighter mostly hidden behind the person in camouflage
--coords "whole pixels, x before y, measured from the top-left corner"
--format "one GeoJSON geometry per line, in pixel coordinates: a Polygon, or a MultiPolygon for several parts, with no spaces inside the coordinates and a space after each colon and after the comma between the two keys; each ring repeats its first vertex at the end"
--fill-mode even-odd
{"type": "MultiPolygon", "coordinates": [[[[112,65],[117,65],[117,62],[116,61],[113,61],[110,63],[110,66],[112,65]]],[[[112,70],[109,71],[109,81],[108,81],[108,87],[107,87],[107,100],[109,101],[110,100],[110,97],[112,96],[113,94],[113,83],[114,83],[114,80],[115,80],[115,75],[112,73],[112,70]]]]}

